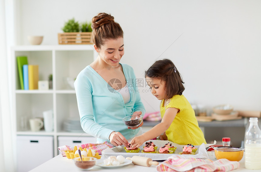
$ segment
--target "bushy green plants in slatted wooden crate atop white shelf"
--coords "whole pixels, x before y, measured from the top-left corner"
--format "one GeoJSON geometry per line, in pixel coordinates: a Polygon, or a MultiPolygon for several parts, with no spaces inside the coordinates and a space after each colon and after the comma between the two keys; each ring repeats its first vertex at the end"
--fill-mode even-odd
{"type": "Polygon", "coordinates": [[[83,22],[79,24],[73,18],[65,22],[62,30],[64,33],[58,33],[59,44],[92,44],[91,23],[83,22]]]}

